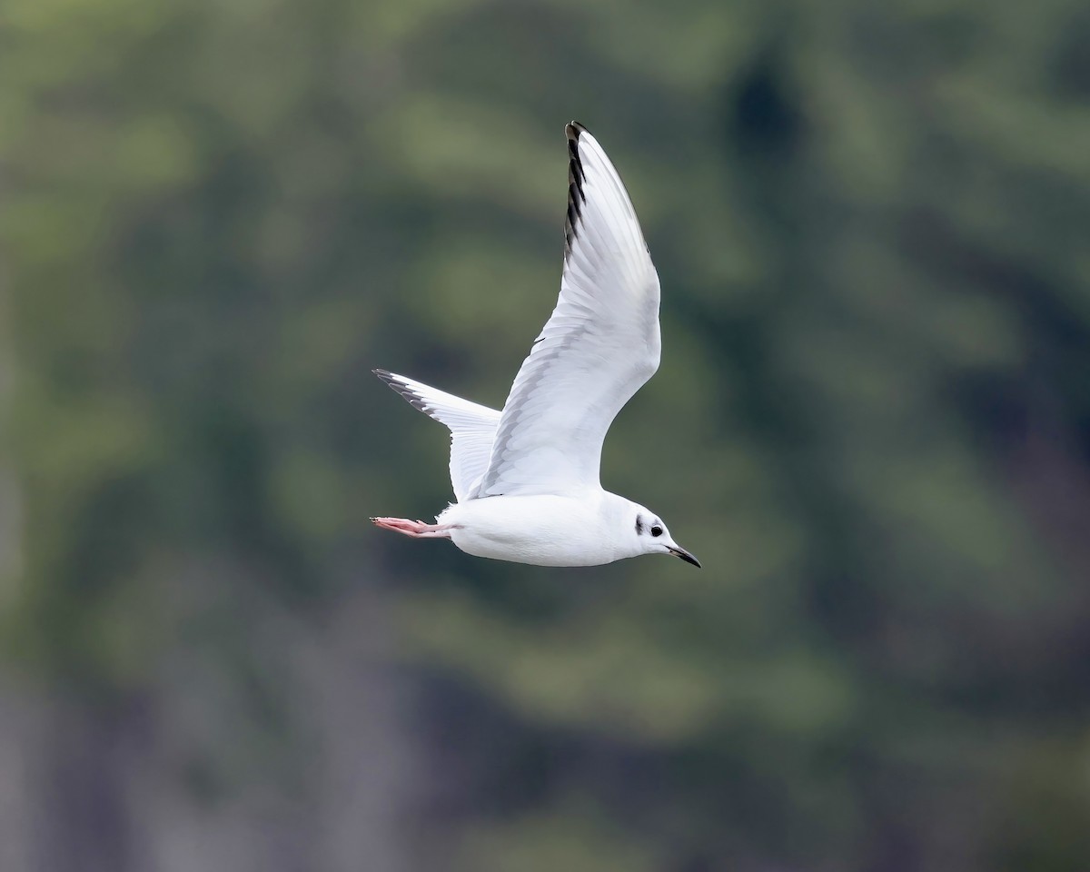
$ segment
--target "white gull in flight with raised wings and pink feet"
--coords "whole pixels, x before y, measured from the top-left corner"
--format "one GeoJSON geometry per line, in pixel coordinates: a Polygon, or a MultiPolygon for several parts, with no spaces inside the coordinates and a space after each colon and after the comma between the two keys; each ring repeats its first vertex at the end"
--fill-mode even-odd
{"type": "Polygon", "coordinates": [[[642,554],[700,561],[653,511],[603,489],[602,443],[658,368],[658,275],[625,184],[586,129],[568,135],[564,275],[553,315],[497,412],[375,370],[450,431],[456,501],[436,523],[372,518],[467,554],[536,566],[597,566],[642,554]]]}

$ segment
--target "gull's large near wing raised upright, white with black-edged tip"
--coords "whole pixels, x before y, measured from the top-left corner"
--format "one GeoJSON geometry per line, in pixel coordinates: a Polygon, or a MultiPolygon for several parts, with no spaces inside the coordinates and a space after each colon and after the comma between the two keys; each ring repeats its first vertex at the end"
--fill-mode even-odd
{"type": "Polygon", "coordinates": [[[658,276],[625,184],[576,122],[560,299],[511,386],[471,497],[598,486],[606,431],[658,368],[658,276]]]}

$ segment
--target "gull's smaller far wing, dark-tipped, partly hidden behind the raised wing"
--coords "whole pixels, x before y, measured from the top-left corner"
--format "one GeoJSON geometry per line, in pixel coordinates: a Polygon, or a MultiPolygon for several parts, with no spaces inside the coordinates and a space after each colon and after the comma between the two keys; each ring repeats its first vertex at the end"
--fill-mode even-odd
{"type": "Polygon", "coordinates": [[[374,372],[412,403],[414,409],[420,409],[450,431],[450,483],[455,487],[455,499],[461,502],[479,484],[488,465],[496,426],[499,424],[499,412],[453,393],[444,393],[403,375],[388,373],[386,370],[374,372]]]}

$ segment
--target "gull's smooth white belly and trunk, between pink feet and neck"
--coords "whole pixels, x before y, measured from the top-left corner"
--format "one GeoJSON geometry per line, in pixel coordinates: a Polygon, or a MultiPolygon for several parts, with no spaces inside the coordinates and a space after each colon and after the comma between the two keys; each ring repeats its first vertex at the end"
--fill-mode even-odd
{"type": "Polygon", "coordinates": [[[448,508],[450,538],[474,557],[535,566],[597,566],[616,560],[600,500],[553,495],[496,496],[448,508]]]}

